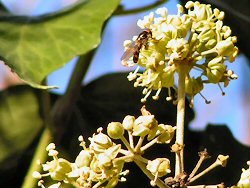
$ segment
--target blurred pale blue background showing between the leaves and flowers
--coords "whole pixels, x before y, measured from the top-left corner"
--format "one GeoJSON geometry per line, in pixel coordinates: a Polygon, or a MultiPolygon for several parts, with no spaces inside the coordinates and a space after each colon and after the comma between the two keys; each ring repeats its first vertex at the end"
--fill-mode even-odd
{"type": "MultiPolygon", "coordinates": [[[[77,0],[2,0],[1,2],[13,14],[37,16],[60,10],[76,1],[77,0]]],[[[122,5],[124,5],[126,9],[133,9],[152,4],[152,2],[155,1],[123,0],[122,5]]],[[[217,3],[222,2],[223,1],[217,1],[217,3]]],[[[179,1],[170,0],[161,5],[161,7],[165,6],[168,8],[169,14],[175,14],[177,12],[177,3],[179,3],[179,1]]],[[[222,7],[228,11],[233,10],[230,9],[232,7],[228,7],[228,4],[222,4],[222,7]]],[[[220,9],[220,7],[218,8],[220,9]]],[[[142,19],[149,12],[155,10],[156,9],[137,14],[113,16],[111,18],[103,32],[103,40],[88,70],[88,74],[85,80],[83,80],[83,84],[87,84],[107,73],[128,71],[128,68],[123,67],[120,63],[120,57],[124,50],[123,41],[131,39],[134,35],[138,35],[141,30],[136,24],[137,20],[142,19]]],[[[248,13],[250,13],[250,10],[248,13]]],[[[250,23],[249,14],[243,15],[243,17],[240,14],[237,14],[237,16],[245,19],[247,23],[250,23]]],[[[59,86],[59,89],[54,89],[52,92],[59,94],[65,92],[76,58],[49,76],[48,84],[59,86]]],[[[230,66],[229,69],[234,70],[238,75],[238,80],[232,81],[229,86],[224,89],[226,92],[225,96],[221,95],[221,91],[217,86],[206,85],[202,93],[205,94],[208,100],[211,100],[211,104],[205,104],[204,100],[198,95],[195,97],[194,110],[196,117],[190,126],[194,130],[203,130],[208,123],[226,124],[238,141],[250,146],[250,62],[244,53],[240,53],[236,61],[233,64],[228,63],[228,65],[230,66]]],[[[9,68],[3,63],[0,63],[0,89],[3,90],[16,83],[21,83],[18,77],[11,73],[9,68]]]]}

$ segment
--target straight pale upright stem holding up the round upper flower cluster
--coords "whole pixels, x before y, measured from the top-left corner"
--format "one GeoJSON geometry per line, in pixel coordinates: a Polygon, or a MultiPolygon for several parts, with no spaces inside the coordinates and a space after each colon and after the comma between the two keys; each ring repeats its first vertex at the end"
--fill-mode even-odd
{"type": "Polygon", "coordinates": [[[184,146],[184,117],[185,117],[185,77],[186,68],[179,67],[178,99],[177,99],[177,120],[176,120],[176,143],[182,149],[176,153],[175,177],[184,171],[183,146],[184,146]]]}

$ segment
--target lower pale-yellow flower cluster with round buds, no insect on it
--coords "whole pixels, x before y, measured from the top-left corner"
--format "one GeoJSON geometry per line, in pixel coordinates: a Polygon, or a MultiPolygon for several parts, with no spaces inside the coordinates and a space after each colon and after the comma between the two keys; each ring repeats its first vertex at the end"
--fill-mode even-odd
{"type": "Polygon", "coordinates": [[[136,164],[143,164],[145,170],[152,174],[151,183],[155,183],[158,177],[170,173],[170,161],[167,158],[151,161],[142,157],[142,154],[155,143],[169,143],[174,131],[175,127],[158,124],[154,115],[143,107],[142,115],[138,118],[128,115],[122,123],[109,123],[107,135],[99,128],[97,134],[89,138],[89,147],[86,147],[83,137],[80,136],[79,141],[83,149],[73,163],[58,158],[55,144],[49,144],[46,150],[53,160],[42,164],[46,173],[34,172],[33,176],[41,179],[38,183],[41,187],[45,187],[42,178],[50,176],[56,181],[51,188],[60,187],[62,183],[84,188],[111,188],[119,181],[126,180],[124,176],[128,170],[123,171],[124,164],[134,161],[136,164]],[[125,132],[128,133],[129,141],[125,138],[125,132]],[[144,138],[147,138],[146,144],[144,138]],[[116,144],[112,139],[120,139],[127,149],[122,149],[122,145],[116,144]]]}

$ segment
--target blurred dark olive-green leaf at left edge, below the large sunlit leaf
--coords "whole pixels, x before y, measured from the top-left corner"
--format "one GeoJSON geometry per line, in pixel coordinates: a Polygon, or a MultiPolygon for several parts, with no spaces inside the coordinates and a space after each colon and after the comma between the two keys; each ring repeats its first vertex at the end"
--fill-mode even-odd
{"type": "Polygon", "coordinates": [[[0,164],[26,149],[42,127],[34,89],[16,86],[0,93],[0,164]]]}

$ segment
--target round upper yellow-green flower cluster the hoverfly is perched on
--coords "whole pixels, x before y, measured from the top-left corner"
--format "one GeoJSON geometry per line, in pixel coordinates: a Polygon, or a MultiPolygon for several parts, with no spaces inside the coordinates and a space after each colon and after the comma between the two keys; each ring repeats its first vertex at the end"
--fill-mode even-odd
{"type": "MultiPolygon", "coordinates": [[[[230,27],[223,25],[224,12],[192,1],[188,1],[185,8],[187,13],[178,5],[177,15],[169,15],[166,8],[159,8],[156,14],[151,12],[137,22],[141,29],[152,32],[147,43],[141,45],[138,62],[130,58],[127,63],[139,65],[128,79],[135,80],[135,87],[144,87],[142,102],[153,90],[156,91],[153,99],[158,99],[162,88],[169,90],[167,100],[171,100],[170,88],[174,87],[174,75],[180,69],[185,70],[185,91],[192,100],[205,83],[224,83],[226,87],[230,80],[237,78],[225,65],[226,61],[235,60],[238,48],[230,27]],[[200,74],[194,75],[192,70],[200,74]]],[[[125,41],[125,50],[131,48],[131,43],[139,42],[136,40],[134,37],[133,43],[125,41]]]]}

